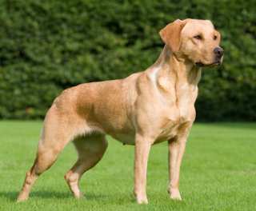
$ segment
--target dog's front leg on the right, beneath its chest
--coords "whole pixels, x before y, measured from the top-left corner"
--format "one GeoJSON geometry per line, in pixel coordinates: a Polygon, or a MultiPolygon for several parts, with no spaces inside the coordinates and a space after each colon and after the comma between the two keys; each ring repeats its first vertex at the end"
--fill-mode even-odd
{"type": "Polygon", "coordinates": [[[179,171],[182,164],[183,153],[186,148],[186,137],[175,138],[168,141],[169,148],[169,187],[170,198],[182,200],[178,189],[179,171]]]}

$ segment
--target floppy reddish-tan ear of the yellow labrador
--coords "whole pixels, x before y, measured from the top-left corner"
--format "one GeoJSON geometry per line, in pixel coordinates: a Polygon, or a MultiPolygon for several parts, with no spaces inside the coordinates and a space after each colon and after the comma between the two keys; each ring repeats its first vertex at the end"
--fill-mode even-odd
{"type": "Polygon", "coordinates": [[[182,21],[177,19],[159,31],[162,41],[165,42],[173,52],[179,50],[181,31],[185,25],[186,20],[182,21]]]}

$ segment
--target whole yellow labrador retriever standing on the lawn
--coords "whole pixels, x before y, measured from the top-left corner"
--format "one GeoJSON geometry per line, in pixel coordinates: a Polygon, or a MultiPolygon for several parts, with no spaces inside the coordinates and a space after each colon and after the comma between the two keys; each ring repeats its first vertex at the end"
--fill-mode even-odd
{"type": "Polygon", "coordinates": [[[160,31],[165,46],[154,65],[128,78],[92,82],[64,90],[46,114],[34,165],[26,173],[18,201],[29,197],[38,176],[49,169],[70,141],[78,161],[65,179],[81,197],[78,182],[101,160],[106,134],[135,145],[134,195],[147,203],[146,168],[151,145],[168,141],[170,198],[181,200],[179,169],[195,118],[194,102],[202,66],[222,63],[220,34],[207,20],[176,20],[160,31]]]}

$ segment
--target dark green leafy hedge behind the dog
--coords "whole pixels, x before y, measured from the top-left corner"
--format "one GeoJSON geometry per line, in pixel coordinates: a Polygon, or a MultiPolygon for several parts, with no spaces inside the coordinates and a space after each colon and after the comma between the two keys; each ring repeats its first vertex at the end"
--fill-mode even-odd
{"type": "Polygon", "coordinates": [[[158,30],[176,18],[211,19],[225,62],[204,70],[198,120],[256,120],[254,0],[0,1],[0,117],[43,117],[82,82],[145,70],[162,49],[158,30]]]}

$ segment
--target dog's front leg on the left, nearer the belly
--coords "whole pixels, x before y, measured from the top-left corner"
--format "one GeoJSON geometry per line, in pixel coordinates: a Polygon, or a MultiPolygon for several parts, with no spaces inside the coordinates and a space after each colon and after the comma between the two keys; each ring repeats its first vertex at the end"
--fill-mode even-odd
{"type": "Polygon", "coordinates": [[[134,156],[134,195],[138,204],[147,204],[146,198],[146,168],[152,141],[142,135],[135,138],[134,156]]]}

